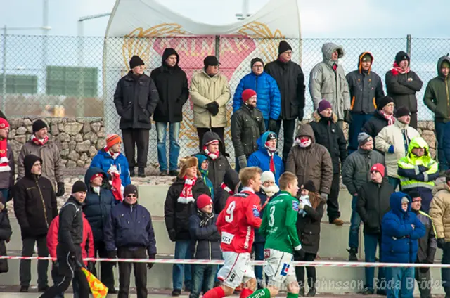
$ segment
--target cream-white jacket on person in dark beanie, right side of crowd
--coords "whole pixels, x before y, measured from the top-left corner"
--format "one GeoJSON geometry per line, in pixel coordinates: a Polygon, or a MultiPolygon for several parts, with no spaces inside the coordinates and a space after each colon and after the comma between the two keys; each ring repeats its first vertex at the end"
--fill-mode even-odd
{"type": "Polygon", "coordinates": [[[395,123],[381,129],[378,136],[375,137],[375,148],[385,153],[385,164],[387,168],[387,176],[393,178],[399,178],[397,171],[399,169],[397,162],[401,157],[406,156],[405,143],[403,137],[403,130],[406,129],[406,135],[409,140],[407,140],[406,148],[409,146],[409,142],[420,136],[416,129],[413,129],[408,124],[403,124],[399,122],[398,119],[395,123]],[[394,153],[389,153],[389,148],[394,145],[394,153]]]}

